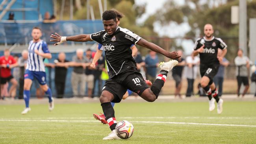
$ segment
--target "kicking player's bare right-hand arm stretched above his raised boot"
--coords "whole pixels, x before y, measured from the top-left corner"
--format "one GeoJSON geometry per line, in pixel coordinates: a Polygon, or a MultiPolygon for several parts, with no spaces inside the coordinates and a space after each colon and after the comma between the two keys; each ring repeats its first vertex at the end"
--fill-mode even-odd
{"type": "Polygon", "coordinates": [[[148,48],[150,50],[153,50],[155,52],[158,52],[162,55],[165,55],[166,57],[169,57],[171,59],[178,59],[180,58],[180,55],[178,55],[178,53],[176,51],[173,51],[173,52],[168,52],[162,48],[160,48],[160,46],[152,43],[152,42],[148,42],[146,41],[145,39],[140,39],[138,42],[137,42],[138,45],[140,46],[143,46],[145,48],[148,48]]]}

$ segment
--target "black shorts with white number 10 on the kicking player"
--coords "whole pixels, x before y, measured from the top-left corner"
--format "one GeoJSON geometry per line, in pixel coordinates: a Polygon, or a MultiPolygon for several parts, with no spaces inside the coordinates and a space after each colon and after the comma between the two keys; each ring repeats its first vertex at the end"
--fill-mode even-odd
{"type": "Polygon", "coordinates": [[[147,88],[149,87],[143,79],[141,73],[131,71],[108,79],[102,91],[107,90],[113,94],[114,100],[112,102],[119,103],[121,102],[122,96],[124,96],[127,89],[137,93],[140,96],[142,92],[147,88]]]}

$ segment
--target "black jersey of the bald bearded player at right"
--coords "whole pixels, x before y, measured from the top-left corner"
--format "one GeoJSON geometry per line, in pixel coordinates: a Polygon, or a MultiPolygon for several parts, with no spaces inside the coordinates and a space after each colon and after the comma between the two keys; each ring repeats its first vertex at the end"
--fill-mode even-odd
{"type": "Polygon", "coordinates": [[[220,38],[213,37],[208,40],[205,37],[197,39],[195,42],[195,50],[200,48],[204,44],[204,51],[199,53],[200,55],[200,63],[211,65],[211,64],[219,64],[219,60],[217,59],[218,48],[224,50],[227,45],[220,38]]]}

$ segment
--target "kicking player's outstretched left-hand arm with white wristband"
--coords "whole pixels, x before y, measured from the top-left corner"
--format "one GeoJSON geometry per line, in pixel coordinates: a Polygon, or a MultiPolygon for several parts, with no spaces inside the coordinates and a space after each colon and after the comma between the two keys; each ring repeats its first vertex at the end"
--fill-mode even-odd
{"type": "Polygon", "coordinates": [[[73,35],[69,37],[62,37],[58,33],[55,33],[51,35],[50,41],[55,41],[56,43],[54,45],[62,44],[65,41],[74,41],[74,42],[87,42],[87,41],[93,41],[89,34],[81,34],[81,35],[73,35]]]}

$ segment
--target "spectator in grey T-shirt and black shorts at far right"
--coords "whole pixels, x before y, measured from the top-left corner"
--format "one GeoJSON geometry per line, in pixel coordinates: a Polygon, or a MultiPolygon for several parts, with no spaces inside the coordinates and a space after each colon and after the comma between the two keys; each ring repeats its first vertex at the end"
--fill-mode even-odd
{"type": "Polygon", "coordinates": [[[240,88],[243,83],[245,89],[243,91],[242,97],[245,96],[247,90],[249,89],[248,80],[248,69],[250,68],[250,61],[247,56],[243,56],[243,50],[239,49],[237,51],[237,57],[235,58],[236,65],[236,78],[237,78],[237,96],[240,96],[240,88]]]}

